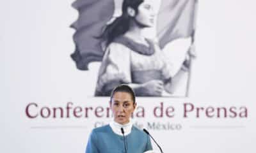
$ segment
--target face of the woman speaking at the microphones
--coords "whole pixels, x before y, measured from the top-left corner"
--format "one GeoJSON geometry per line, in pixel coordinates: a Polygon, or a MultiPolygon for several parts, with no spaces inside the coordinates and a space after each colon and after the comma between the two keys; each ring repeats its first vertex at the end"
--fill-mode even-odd
{"type": "Polygon", "coordinates": [[[119,124],[128,123],[136,108],[136,103],[132,101],[132,96],[128,92],[115,92],[110,104],[114,120],[119,124]]]}

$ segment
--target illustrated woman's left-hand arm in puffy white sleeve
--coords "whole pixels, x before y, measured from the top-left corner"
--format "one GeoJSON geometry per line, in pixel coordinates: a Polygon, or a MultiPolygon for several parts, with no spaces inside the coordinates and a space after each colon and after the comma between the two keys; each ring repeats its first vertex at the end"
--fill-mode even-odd
{"type": "Polygon", "coordinates": [[[111,43],[100,66],[96,90],[109,95],[117,85],[131,82],[130,51],[123,45],[111,43]]]}

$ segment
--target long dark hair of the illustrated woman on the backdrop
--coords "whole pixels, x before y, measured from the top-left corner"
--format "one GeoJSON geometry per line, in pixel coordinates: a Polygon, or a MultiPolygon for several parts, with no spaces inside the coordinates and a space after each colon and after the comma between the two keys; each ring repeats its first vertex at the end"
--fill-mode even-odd
{"type": "Polygon", "coordinates": [[[108,46],[115,38],[125,34],[129,31],[132,17],[127,13],[127,8],[131,7],[135,11],[135,15],[138,14],[138,6],[143,3],[144,0],[124,0],[122,4],[122,16],[115,19],[115,21],[107,25],[99,37],[102,41],[105,41],[108,46]]]}

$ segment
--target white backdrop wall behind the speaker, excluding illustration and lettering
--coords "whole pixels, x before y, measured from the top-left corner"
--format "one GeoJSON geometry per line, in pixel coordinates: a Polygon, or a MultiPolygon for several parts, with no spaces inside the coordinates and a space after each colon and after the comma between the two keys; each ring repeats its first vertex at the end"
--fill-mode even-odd
{"type": "MultiPolygon", "coordinates": [[[[108,98],[93,98],[99,63],[79,71],[70,59],[74,52],[68,26],[77,11],[67,1],[0,2],[1,152],[84,152],[95,122],[88,117],[29,119],[26,106],[108,106],[108,98]]],[[[138,98],[147,122],[180,124],[180,130],[151,129],[164,152],[255,152],[256,62],[255,1],[199,1],[196,53],[189,98],[138,98]],[[157,118],[154,107],[173,106],[175,117],[157,118]],[[246,118],[183,116],[183,103],[197,107],[244,106],[246,118]]],[[[39,109],[31,108],[36,113],[39,109]]],[[[147,127],[145,127],[147,128],[147,127]]],[[[156,146],[154,148],[157,150],[156,146]]]]}

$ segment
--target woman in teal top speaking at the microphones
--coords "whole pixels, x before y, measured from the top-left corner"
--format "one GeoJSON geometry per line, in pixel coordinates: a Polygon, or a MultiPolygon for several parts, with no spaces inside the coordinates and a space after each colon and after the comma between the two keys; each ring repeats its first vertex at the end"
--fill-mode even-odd
{"type": "Polygon", "coordinates": [[[110,99],[114,120],[107,126],[93,129],[87,143],[86,153],[142,153],[152,150],[150,138],[132,126],[131,115],[136,108],[131,87],[119,85],[110,99]],[[122,133],[122,129],[124,133],[122,133]]]}

